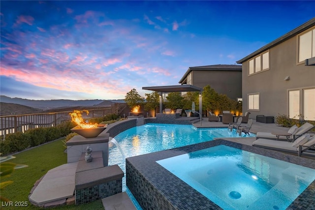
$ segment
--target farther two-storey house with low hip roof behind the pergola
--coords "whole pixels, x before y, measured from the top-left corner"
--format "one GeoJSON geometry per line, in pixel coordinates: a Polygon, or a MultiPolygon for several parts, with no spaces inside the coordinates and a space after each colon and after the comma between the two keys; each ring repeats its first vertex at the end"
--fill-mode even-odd
{"type": "Polygon", "coordinates": [[[242,98],[242,65],[205,65],[189,67],[181,85],[203,88],[210,85],[219,94],[237,100],[242,98]]]}

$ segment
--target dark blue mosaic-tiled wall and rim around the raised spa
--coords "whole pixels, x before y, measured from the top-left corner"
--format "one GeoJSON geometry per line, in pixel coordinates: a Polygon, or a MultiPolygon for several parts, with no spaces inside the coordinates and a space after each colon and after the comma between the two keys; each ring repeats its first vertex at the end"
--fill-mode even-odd
{"type": "MultiPolygon", "coordinates": [[[[211,200],[156,162],[218,145],[226,145],[315,169],[315,161],[312,159],[216,139],[126,158],[126,185],[143,209],[221,210],[211,200]]],[[[315,206],[314,197],[315,180],[289,205],[287,210],[311,210],[315,206]]]]}

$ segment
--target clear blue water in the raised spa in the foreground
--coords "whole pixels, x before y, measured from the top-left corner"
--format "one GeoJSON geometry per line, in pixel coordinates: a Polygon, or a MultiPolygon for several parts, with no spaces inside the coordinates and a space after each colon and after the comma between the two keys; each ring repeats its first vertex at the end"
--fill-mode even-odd
{"type": "Polygon", "coordinates": [[[315,170],[220,145],[157,161],[224,210],[286,209],[315,170]]]}

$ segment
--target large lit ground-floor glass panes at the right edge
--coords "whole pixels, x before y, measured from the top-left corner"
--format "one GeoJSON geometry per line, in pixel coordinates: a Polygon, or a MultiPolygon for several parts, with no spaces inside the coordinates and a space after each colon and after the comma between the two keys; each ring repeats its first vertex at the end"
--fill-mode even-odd
{"type": "Polygon", "coordinates": [[[288,103],[289,118],[315,121],[315,88],[289,90],[288,103]]]}

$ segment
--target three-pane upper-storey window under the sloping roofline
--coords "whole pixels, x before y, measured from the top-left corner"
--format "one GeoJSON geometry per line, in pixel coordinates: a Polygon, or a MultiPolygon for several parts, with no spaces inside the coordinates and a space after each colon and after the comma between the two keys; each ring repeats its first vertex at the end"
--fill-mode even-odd
{"type": "Polygon", "coordinates": [[[269,69],[269,51],[249,60],[249,75],[269,69]]]}

